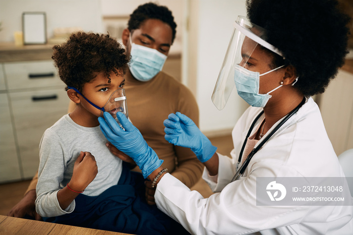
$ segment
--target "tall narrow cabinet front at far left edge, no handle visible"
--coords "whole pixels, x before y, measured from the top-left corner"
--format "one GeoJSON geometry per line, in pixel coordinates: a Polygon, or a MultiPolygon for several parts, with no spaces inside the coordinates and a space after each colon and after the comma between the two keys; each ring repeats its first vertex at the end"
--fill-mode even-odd
{"type": "Polygon", "coordinates": [[[7,94],[0,94],[0,183],[21,180],[7,94]]]}

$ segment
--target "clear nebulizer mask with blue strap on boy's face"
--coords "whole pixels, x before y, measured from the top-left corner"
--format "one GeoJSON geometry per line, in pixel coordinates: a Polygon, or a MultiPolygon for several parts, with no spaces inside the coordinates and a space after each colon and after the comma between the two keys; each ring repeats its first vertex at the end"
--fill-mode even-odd
{"type": "Polygon", "coordinates": [[[120,124],[119,120],[116,117],[117,112],[122,112],[126,116],[126,118],[129,118],[129,112],[128,112],[128,104],[126,102],[126,95],[125,95],[125,89],[117,89],[114,91],[108,101],[105,103],[103,107],[99,107],[98,105],[94,104],[91,102],[89,99],[87,99],[84,95],[81,94],[75,87],[68,87],[69,89],[75,90],[77,93],[79,93],[83,98],[87,100],[88,103],[90,103],[93,107],[101,110],[101,116],[103,117],[103,112],[109,112],[110,115],[116,120],[116,122],[119,124],[121,128],[123,126],[120,124]]]}

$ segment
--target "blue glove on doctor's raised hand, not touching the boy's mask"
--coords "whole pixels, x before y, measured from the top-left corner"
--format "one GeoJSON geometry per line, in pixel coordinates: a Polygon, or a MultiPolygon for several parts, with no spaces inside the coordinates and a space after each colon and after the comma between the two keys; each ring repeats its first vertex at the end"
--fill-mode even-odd
{"type": "Polygon", "coordinates": [[[163,124],[165,140],[174,145],[190,148],[201,162],[208,161],[216,152],[217,148],[188,116],[180,112],[170,113],[163,124]]]}

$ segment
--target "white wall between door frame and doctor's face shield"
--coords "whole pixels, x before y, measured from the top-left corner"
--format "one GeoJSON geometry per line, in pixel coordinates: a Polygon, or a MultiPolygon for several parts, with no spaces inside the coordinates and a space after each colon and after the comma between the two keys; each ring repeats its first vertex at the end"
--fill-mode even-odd
{"type": "Polygon", "coordinates": [[[238,96],[235,86],[220,111],[212,103],[211,95],[233,31],[233,22],[238,15],[246,16],[245,0],[201,0],[198,5],[198,13],[193,9],[190,13],[198,14],[198,38],[189,47],[197,46],[196,98],[200,129],[209,136],[215,132],[229,133],[248,105],[238,96]]]}

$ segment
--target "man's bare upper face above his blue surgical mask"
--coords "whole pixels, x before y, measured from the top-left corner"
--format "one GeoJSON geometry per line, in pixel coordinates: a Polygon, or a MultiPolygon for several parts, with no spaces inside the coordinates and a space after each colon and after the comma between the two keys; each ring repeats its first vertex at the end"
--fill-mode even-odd
{"type": "MultiPolygon", "coordinates": [[[[172,30],[168,24],[160,20],[148,19],[141,24],[140,28],[132,30],[130,35],[133,43],[156,49],[162,54],[168,55],[172,43],[172,30]]],[[[125,45],[130,53],[130,39],[125,45]]]]}

